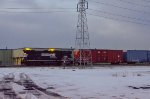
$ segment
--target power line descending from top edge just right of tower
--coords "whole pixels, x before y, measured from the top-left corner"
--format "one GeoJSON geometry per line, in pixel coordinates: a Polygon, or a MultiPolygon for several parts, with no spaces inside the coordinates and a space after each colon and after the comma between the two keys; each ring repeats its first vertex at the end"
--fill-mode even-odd
{"type": "Polygon", "coordinates": [[[130,8],[127,8],[127,7],[121,7],[121,6],[117,6],[117,5],[113,5],[113,4],[109,4],[109,3],[104,3],[104,2],[98,2],[98,1],[94,1],[94,0],[90,0],[90,1],[92,1],[94,3],[106,5],[106,6],[112,6],[112,7],[115,7],[115,8],[128,10],[128,11],[134,11],[134,12],[143,13],[143,14],[150,14],[150,12],[146,12],[146,11],[142,11],[142,10],[130,9],[130,8]]]}

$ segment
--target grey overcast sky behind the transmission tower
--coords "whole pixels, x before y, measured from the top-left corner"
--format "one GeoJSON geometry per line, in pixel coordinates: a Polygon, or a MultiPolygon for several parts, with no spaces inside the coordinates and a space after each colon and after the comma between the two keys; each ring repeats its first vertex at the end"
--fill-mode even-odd
{"type": "MultiPolygon", "coordinates": [[[[0,0],[0,48],[74,47],[76,9],[55,12],[51,8],[76,8],[77,3],[78,0],[0,0]],[[52,13],[15,13],[51,10],[52,13]]],[[[91,48],[150,49],[150,1],[89,0],[87,13],[91,48]]]]}

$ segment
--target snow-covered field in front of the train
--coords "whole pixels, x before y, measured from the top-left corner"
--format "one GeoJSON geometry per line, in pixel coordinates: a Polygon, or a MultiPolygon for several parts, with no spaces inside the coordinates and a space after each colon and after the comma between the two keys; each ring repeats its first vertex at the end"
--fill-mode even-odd
{"type": "Polygon", "coordinates": [[[150,99],[148,66],[0,68],[0,78],[8,73],[25,73],[41,87],[70,99],[150,99]]]}

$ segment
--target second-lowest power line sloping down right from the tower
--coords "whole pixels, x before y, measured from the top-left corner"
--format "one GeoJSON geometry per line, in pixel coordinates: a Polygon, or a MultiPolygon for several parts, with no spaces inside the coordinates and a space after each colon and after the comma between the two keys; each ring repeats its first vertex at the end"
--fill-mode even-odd
{"type": "Polygon", "coordinates": [[[135,17],[130,17],[130,16],[124,16],[124,15],[115,14],[115,13],[110,13],[110,12],[101,11],[101,10],[94,10],[94,9],[89,9],[89,10],[96,11],[96,12],[100,12],[100,13],[103,13],[103,14],[113,15],[113,16],[117,16],[117,17],[123,17],[123,18],[131,19],[131,20],[150,22],[150,20],[144,20],[144,19],[141,19],[141,18],[135,18],[135,17]]]}

